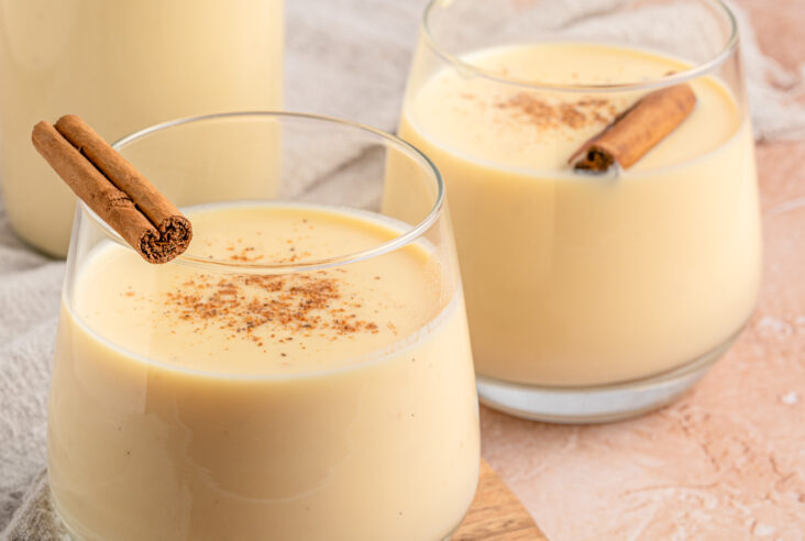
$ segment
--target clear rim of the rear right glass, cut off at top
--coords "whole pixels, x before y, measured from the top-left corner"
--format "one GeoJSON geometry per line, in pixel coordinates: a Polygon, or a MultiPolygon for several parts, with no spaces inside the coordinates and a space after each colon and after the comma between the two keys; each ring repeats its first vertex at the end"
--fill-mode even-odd
{"type": "MultiPolygon", "coordinates": [[[[701,3],[701,0],[698,0],[701,3]]],[[[430,18],[432,12],[439,5],[443,4],[444,0],[429,0],[422,16],[420,19],[420,34],[424,37],[424,42],[428,47],[445,60],[449,65],[462,70],[462,73],[468,73],[476,77],[483,77],[485,79],[500,82],[508,86],[521,87],[530,90],[542,90],[542,91],[564,91],[564,92],[624,92],[632,90],[653,90],[671,85],[677,85],[696,77],[699,77],[712,69],[718,67],[735,53],[738,47],[738,21],[735,13],[729,8],[725,0],[713,0],[708,3],[720,8],[721,12],[727,15],[727,20],[730,25],[729,37],[724,43],[721,49],[709,59],[697,63],[690,68],[670,73],[660,77],[654,77],[649,80],[633,81],[633,82],[618,82],[618,84],[551,84],[551,82],[536,82],[527,79],[519,79],[517,77],[506,77],[495,74],[488,69],[481,68],[474,64],[462,60],[459,56],[450,53],[443,47],[439,40],[431,32],[430,18]]],[[[452,2],[450,2],[452,3],[452,2]]]]}

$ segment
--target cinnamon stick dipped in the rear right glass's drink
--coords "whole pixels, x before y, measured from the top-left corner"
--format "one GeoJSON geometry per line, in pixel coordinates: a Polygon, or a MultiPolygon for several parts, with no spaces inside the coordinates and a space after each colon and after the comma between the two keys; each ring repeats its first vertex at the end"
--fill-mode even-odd
{"type": "Polygon", "coordinates": [[[649,92],[570,157],[576,170],[603,173],[617,163],[635,165],[687,118],[696,95],[687,84],[649,92]]]}

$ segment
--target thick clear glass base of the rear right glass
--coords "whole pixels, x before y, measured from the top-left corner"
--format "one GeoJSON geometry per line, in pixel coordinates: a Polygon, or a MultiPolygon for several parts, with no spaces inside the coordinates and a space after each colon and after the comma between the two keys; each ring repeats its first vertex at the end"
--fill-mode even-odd
{"type": "Polygon", "coordinates": [[[701,357],[643,379],[595,387],[540,387],[477,374],[478,397],[493,409],[534,421],[583,424],[637,417],[674,401],[693,387],[741,330],[701,357]]]}

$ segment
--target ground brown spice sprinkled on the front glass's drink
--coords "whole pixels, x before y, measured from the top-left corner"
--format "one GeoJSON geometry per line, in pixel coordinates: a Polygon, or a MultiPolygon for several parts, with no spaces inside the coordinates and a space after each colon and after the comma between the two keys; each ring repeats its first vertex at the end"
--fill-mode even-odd
{"type": "Polygon", "coordinates": [[[309,336],[328,330],[338,339],[379,332],[376,323],[353,313],[361,303],[345,298],[343,281],[333,274],[199,275],[168,291],[164,306],[168,313],[192,322],[196,332],[214,325],[229,331],[230,339],[247,339],[258,346],[269,339],[255,332],[264,327],[282,331],[283,336],[271,334],[278,343],[293,341],[290,333],[309,336]]]}

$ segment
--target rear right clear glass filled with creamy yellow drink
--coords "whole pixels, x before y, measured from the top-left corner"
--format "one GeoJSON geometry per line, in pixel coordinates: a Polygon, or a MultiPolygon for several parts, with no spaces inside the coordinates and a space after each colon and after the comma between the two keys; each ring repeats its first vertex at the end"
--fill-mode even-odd
{"type": "Polygon", "coordinates": [[[400,136],[445,178],[492,407],[561,422],[650,410],[694,385],[749,318],[758,190],[724,3],[434,0],[400,136]],[[588,137],[683,82],[693,112],[639,162],[574,173],[588,137]]]}

